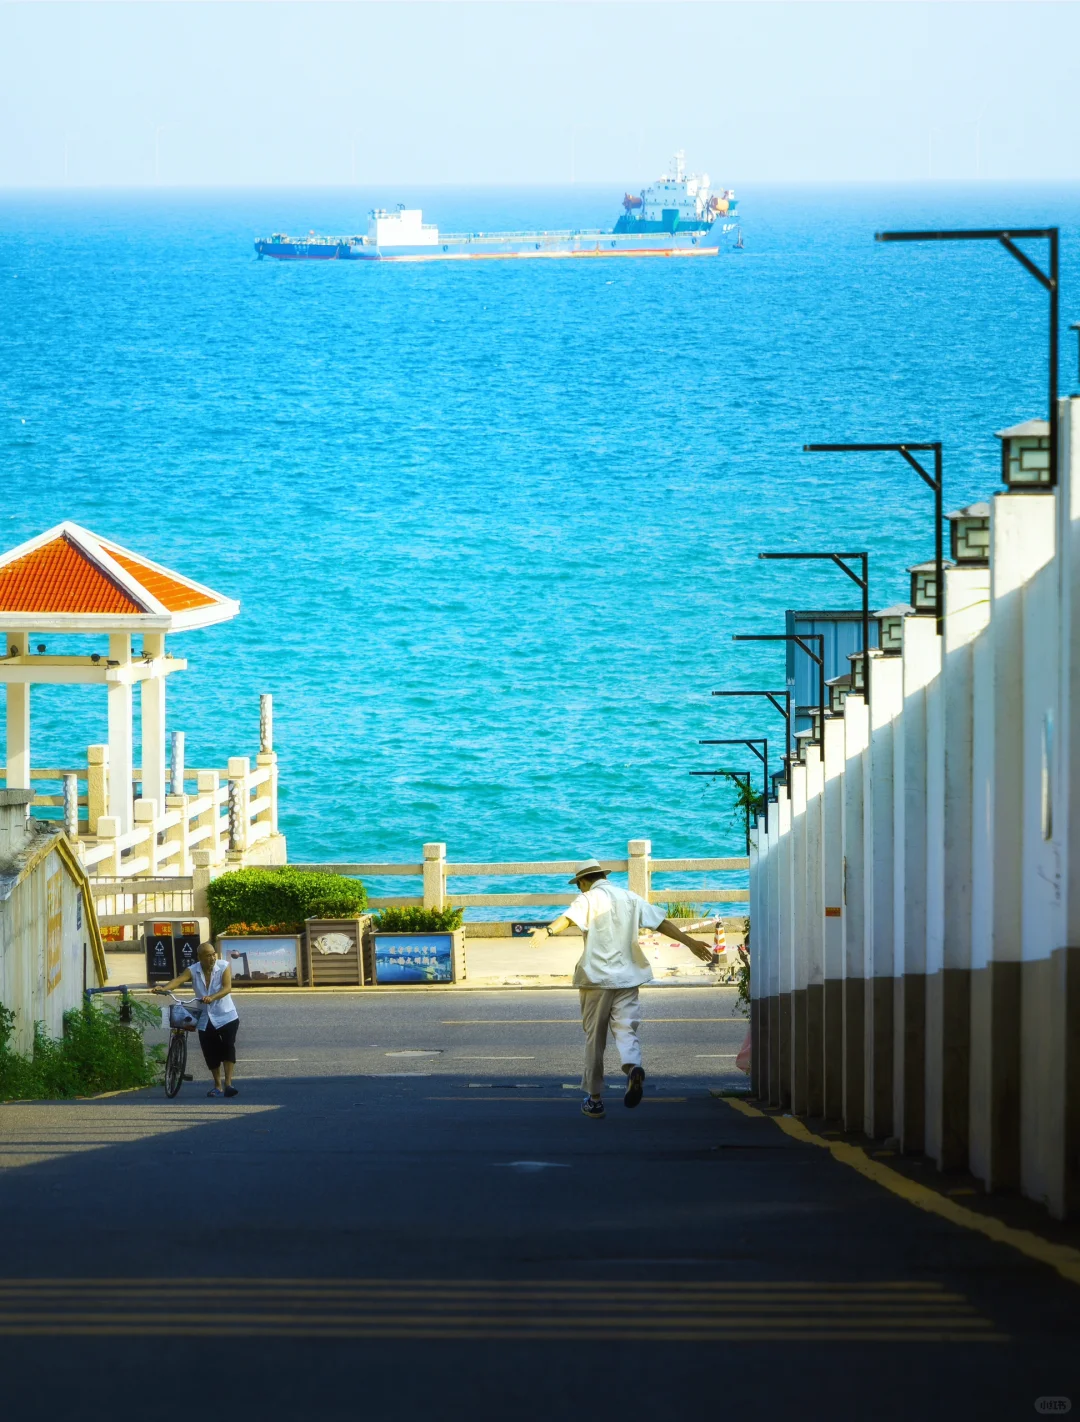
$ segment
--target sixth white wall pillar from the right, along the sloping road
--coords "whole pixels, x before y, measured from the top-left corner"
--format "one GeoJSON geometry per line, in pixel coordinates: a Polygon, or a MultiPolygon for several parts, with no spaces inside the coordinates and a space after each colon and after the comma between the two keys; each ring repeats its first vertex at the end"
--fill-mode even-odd
{"type": "Polygon", "coordinates": [[[862,1130],[865,1122],[865,843],[864,769],[869,717],[862,697],[844,702],[844,786],[841,829],[844,843],[844,1129],[862,1130]]]}

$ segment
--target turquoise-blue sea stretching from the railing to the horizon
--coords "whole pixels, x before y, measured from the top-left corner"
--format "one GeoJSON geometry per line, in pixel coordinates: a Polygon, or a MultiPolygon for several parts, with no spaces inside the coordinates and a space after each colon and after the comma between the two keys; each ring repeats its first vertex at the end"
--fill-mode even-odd
{"type": "MultiPolygon", "coordinates": [[[[295,859],[741,852],[689,771],[702,737],[780,742],[710,691],[780,684],[783,648],[731,633],[855,593],[758,550],[868,547],[885,606],[933,546],[898,456],[801,445],[941,438],[956,508],[1046,408],[1042,289],[995,245],[874,230],[1060,223],[1067,328],[1080,192],[746,188],[746,252],[699,262],[253,257],[398,196],[494,230],[606,225],[620,193],[0,196],[0,546],[70,518],[239,597],[175,638],[169,725],[223,765],[273,693],[295,859]]],[[[33,715],[36,765],[105,738],[97,691],[33,715]]]]}

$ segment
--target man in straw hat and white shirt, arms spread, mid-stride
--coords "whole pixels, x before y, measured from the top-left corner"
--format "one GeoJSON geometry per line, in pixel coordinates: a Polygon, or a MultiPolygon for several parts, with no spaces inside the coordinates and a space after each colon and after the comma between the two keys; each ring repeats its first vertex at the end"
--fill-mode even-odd
{"type": "Polygon", "coordinates": [[[637,990],[642,983],[650,981],[653,970],[637,943],[640,930],[659,929],[669,939],[684,943],[710,966],[713,954],[706,944],[697,943],[666,919],[662,909],[646,903],[629,889],[608,883],[608,872],[598,859],[586,859],[583,865],[578,865],[569,883],[578,886],[578,897],[552,924],[536,930],[532,941],[542,943],[548,934],[562,933],[572,923],[585,936],[585,951],[573,970],[585,1028],[582,1089],[588,1095],[581,1109],[599,1121],[603,1116],[603,1049],[609,1031],[628,1078],[623,1105],[636,1106],[645,1089],[642,1044],[637,1041],[637,990]]]}

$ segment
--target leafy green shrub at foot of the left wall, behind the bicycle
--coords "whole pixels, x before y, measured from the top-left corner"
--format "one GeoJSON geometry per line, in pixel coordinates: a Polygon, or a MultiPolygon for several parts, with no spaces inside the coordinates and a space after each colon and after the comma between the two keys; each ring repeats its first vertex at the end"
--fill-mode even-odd
{"type": "Polygon", "coordinates": [[[9,1048],[14,1012],[0,1005],[0,1101],[31,1098],[54,1101],[92,1096],[100,1091],[152,1086],[158,1075],[155,1048],[147,1054],[141,1028],[157,1025],[158,1012],[129,1003],[132,1021],[121,1021],[112,1004],[84,1003],[64,1012],[64,1035],[46,1037],[34,1024],[34,1051],[21,1057],[9,1048]]]}

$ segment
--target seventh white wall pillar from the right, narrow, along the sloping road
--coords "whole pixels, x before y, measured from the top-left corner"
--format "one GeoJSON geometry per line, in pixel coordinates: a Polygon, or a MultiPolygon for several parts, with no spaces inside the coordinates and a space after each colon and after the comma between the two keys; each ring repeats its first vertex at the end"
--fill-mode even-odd
{"type": "Polygon", "coordinates": [[[844,1116],[844,718],[825,717],[821,791],[822,1115],[844,1116]]]}

